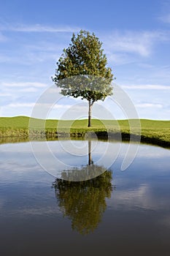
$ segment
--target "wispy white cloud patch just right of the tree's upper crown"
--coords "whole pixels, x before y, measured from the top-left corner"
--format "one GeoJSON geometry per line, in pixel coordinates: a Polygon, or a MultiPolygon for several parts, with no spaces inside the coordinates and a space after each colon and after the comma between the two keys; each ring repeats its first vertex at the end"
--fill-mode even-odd
{"type": "Polygon", "coordinates": [[[140,56],[150,56],[155,42],[168,39],[168,35],[163,31],[125,31],[124,33],[115,31],[109,36],[105,36],[104,45],[106,49],[113,52],[137,53],[140,56]]]}

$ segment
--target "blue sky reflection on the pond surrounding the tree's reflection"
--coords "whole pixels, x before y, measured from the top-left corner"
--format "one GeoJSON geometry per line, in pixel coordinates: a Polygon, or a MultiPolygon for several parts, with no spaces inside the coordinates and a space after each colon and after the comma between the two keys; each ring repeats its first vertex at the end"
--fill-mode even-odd
{"type": "MultiPolygon", "coordinates": [[[[79,148],[85,146],[83,143],[80,145],[80,142],[74,143],[79,148]]],[[[57,141],[49,143],[54,154],[60,152],[58,145],[57,141]]],[[[100,142],[98,145],[96,151],[92,145],[93,159],[103,154],[102,146],[105,144],[100,142]]],[[[43,143],[39,143],[39,146],[42,148],[43,143]]],[[[110,168],[115,189],[112,197],[106,199],[107,210],[95,233],[89,235],[89,243],[93,241],[107,246],[110,252],[112,246],[116,252],[120,244],[134,248],[134,241],[136,247],[144,246],[146,249],[147,246],[152,248],[154,244],[154,248],[167,246],[169,249],[170,151],[141,145],[134,162],[121,172],[120,166],[127,147],[128,143],[123,143],[119,156],[110,168]]],[[[114,146],[106,159],[112,158],[113,150],[114,146]]],[[[51,188],[55,178],[37,164],[30,144],[1,145],[0,155],[0,225],[3,230],[0,238],[4,239],[4,244],[10,242],[15,247],[15,243],[22,240],[26,246],[27,241],[34,244],[37,238],[43,237],[50,248],[60,246],[63,241],[64,244],[74,243],[77,239],[80,239],[80,244],[85,242],[87,245],[88,240],[72,232],[69,220],[62,218],[54,189],[51,188]]],[[[80,157],[77,163],[87,165],[87,160],[87,156],[80,157]]]]}

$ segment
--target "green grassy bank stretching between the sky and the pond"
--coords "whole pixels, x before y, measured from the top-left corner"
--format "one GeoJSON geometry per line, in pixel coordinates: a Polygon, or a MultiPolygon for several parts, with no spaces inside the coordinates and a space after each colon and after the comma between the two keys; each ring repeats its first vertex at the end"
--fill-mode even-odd
{"type": "Polygon", "coordinates": [[[170,121],[150,119],[98,120],[92,119],[92,127],[88,120],[55,120],[38,119],[28,116],[0,117],[0,140],[8,138],[48,138],[58,137],[99,139],[115,138],[115,140],[138,140],[156,146],[170,148],[170,121]],[[140,137],[141,136],[141,137],[140,137]]]}

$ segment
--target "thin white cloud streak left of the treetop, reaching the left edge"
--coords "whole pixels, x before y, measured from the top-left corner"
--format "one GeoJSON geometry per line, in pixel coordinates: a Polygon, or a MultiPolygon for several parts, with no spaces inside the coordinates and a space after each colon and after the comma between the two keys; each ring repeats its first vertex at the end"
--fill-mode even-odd
{"type": "Polygon", "coordinates": [[[17,24],[17,25],[1,26],[0,30],[1,31],[16,31],[16,32],[49,32],[49,33],[56,33],[56,32],[76,32],[76,31],[80,31],[80,28],[71,27],[71,26],[63,26],[63,27],[44,26],[44,25],[41,25],[41,24],[34,24],[34,25],[17,24]]]}

